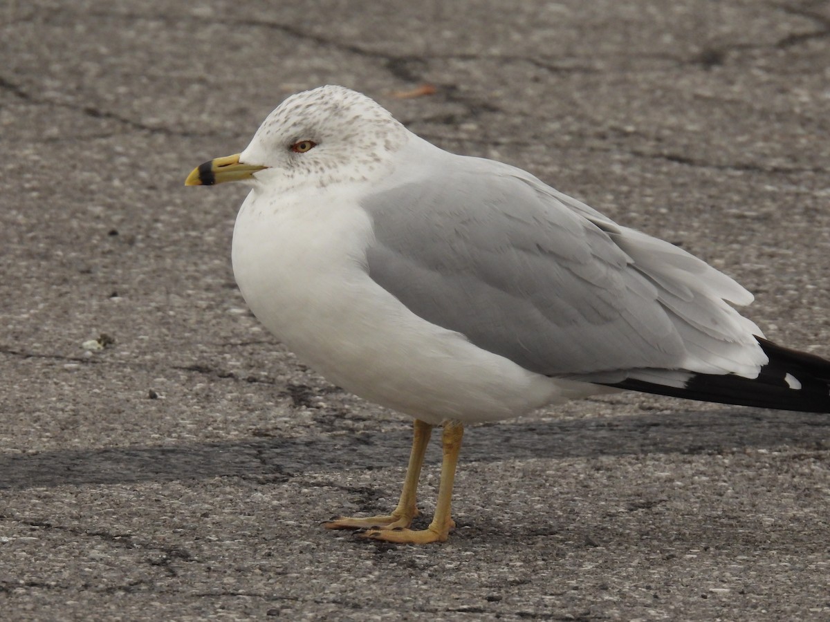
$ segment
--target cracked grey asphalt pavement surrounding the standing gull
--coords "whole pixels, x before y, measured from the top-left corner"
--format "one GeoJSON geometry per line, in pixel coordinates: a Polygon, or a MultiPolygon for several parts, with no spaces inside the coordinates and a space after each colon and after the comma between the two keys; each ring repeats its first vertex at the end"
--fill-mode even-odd
{"type": "Polygon", "coordinates": [[[6,0],[0,59],[4,620],[830,619],[827,415],[574,402],[468,430],[446,544],[325,532],[392,506],[410,423],[247,312],[246,189],[183,187],[346,85],[709,260],[827,357],[827,2],[6,0]]]}

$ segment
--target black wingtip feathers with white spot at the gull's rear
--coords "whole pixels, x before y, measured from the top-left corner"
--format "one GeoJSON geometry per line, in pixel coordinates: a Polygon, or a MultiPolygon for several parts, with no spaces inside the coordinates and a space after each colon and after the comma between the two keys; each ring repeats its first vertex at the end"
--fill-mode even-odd
{"type": "Polygon", "coordinates": [[[691,374],[684,386],[628,378],[608,384],[620,389],[739,404],[781,411],[830,412],[830,361],[756,337],[769,357],[758,377],[735,374],[691,374]]]}

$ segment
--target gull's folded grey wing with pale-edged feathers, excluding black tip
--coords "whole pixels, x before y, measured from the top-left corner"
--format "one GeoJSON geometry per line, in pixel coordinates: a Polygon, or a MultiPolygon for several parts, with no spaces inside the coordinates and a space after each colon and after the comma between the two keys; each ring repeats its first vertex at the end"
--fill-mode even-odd
{"type": "Polygon", "coordinates": [[[453,158],[363,203],[369,275],[413,313],[548,376],[757,373],[735,281],[520,169],[453,158]]]}

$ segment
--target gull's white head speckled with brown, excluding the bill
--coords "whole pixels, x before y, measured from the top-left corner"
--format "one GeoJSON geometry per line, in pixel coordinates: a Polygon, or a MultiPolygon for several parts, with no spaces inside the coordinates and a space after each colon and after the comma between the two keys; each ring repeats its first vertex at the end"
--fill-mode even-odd
{"type": "Polygon", "coordinates": [[[409,132],[366,95],[320,86],[291,95],[263,121],[240,163],[261,165],[256,181],[327,186],[367,178],[409,132]]]}

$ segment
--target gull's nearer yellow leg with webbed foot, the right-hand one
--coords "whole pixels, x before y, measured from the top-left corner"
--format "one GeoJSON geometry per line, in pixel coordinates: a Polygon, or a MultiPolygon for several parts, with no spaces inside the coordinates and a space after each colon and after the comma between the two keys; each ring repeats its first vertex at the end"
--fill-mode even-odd
{"type": "Polygon", "coordinates": [[[438,488],[438,503],[435,506],[435,517],[429,527],[421,531],[412,529],[371,530],[365,537],[383,542],[400,542],[404,544],[427,544],[429,542],[447,542],[450,529],[455,527],[452,522],[452,484],[456,479],[456,464],[461,451],[461,438],[464,436],[464,425],[458,421],[447,421],[442,434],[443,460],[441,464],[441,485],[438,488]]]}

